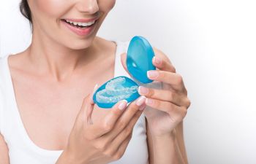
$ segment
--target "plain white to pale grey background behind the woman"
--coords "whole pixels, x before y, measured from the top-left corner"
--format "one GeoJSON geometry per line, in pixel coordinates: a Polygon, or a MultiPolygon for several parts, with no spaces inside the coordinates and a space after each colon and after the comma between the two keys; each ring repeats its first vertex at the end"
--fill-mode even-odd
{"type": "MultiPolygon", "coordinates": [[[[18,1],[0,2],[1,55],[30,42],[18,1]]],[[[192,100],[184,121],[189,163],[255,164],[255,2],[117,0],[99,36],[134,35],[165,52],[184,77],[192,100]]]]}

